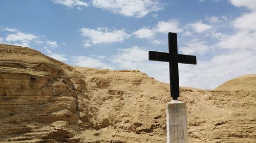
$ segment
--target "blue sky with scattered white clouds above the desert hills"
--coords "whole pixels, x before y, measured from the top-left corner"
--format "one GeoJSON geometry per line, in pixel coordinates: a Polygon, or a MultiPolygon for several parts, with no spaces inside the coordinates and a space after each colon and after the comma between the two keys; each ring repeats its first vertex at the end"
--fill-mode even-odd
{"type": "Polygon", "coordinates": [[[140,70],[169,82],[168,63],[148,50],[197,55],[179,64],[180,85],[214,89],[256,73],[255,0],[0,1],[0,43],[39,50],[69,65],[140,70]]]}

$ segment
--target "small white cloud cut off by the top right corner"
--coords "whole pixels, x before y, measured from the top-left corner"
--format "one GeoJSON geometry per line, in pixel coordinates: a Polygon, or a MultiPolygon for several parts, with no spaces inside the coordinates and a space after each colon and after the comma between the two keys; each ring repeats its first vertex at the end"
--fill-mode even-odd
{"type": "Polygon", "coordinates": [[[229,2],[236,7],[246,7],[250,10],[256,10],[256,1],[255,0],[229,0],[229,2]]]}

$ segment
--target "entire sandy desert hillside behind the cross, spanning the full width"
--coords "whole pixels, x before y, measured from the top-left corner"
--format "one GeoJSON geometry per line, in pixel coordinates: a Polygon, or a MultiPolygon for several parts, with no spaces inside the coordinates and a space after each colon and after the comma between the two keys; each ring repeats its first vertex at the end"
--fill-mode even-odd
{"type": "MultiPolygon", "coordinates": [[[[189,142],[254,142],[256,75],[181,88],[189,142]]],[[[169,85],[0,44],[0,142],[166,142],[169,85]]]]}

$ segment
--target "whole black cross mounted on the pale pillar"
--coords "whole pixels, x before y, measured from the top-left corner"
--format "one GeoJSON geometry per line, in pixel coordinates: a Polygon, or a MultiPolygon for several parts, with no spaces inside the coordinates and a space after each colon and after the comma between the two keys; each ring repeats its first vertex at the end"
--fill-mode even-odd
{"type": "Polygon", "coordinates": [[[178,97],[180,97],[178,63],[196,65],[197,57],[195,55],[178,54],[176,33],[168,33],[168,40],[169,53],[149,51],[148,60],[169,62],[170,97],[173,97],[174,100],[178,100],[178,97]]]}

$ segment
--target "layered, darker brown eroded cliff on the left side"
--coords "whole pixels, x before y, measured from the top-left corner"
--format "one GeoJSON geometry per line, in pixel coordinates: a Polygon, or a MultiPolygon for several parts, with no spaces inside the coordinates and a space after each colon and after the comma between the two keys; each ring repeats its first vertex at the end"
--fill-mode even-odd
{"type": "Polygon", "coordinates": [[[79,72],[29,48],[0,44],[0,53],[0,140],[65,140],[81,130],[79,72]]]}

